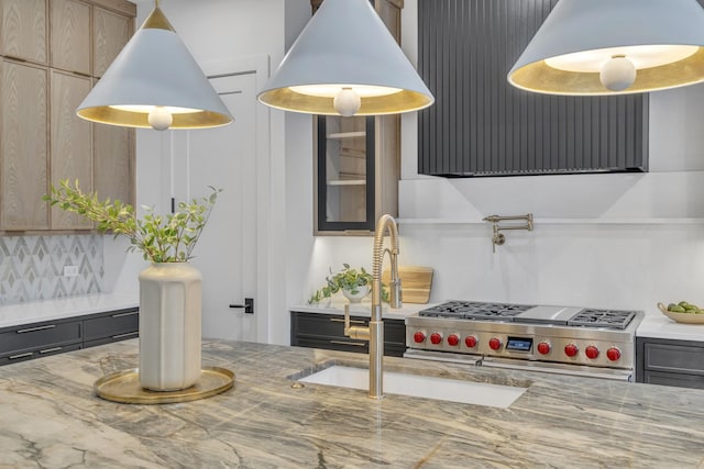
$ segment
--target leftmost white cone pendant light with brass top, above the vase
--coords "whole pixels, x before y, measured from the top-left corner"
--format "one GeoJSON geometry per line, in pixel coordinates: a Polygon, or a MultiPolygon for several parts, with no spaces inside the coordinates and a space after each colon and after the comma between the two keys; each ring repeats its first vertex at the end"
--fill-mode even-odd
{"type": "Polygon", "coordinates": [[[160,131],[232,122],[158,2],[76,112],[88,121],[160,131]]]}

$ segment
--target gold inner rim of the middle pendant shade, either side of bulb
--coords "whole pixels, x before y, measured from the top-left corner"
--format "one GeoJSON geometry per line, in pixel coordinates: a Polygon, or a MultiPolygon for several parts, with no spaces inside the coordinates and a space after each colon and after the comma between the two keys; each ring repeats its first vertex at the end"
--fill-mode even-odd
{"type": "MultiPolygon", "coordinates": [[[[277,88],[265,91],[258,97],[260,101],[273,108],[285,111],[306,112],[321,115],[339,115],[330,97],[302,94],[290,88],[277,88]]],[[[354,115],[383,115],[399,112],[416,111],[432,103],[432,97],[418,91],[403,90],[393,94],[373,98],[362,98],[362,105],[354,115]]]]}

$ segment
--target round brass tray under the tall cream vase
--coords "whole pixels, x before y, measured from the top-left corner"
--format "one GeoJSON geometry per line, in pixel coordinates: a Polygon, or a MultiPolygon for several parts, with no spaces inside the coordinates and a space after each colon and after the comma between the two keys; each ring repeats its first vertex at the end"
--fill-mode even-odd
{"type": "Polygon", "coordinates": [[[125,404],[169,404],[196,401],[227,391],[234,386],[234,372],[219,367],[204,367],[200,379],[190,388],[178,391],[151,391],[140,384],[140,370],[118,371],[100,378],[94,384],[96,394],[107,401],[125,404]]]}

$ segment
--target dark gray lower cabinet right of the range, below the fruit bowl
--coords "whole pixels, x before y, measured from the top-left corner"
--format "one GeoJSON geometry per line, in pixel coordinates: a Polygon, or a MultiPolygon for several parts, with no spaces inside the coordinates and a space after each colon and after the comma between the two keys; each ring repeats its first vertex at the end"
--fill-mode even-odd
{"type": "Polygon", "coordinates": [[[704,343],[636,337],[636,381],[704,389],[704,343]]]}

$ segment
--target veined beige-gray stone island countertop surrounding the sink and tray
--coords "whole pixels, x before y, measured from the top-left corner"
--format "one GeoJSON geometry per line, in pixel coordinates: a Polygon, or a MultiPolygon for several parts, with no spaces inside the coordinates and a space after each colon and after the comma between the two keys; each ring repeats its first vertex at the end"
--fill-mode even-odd
{"type": "Polygon", "coordinates": [[[696,468],[704,391],[385,358],[388,370],[527,386],[508,409],[306,384],[289,377],[366,356],[205,342],[235,372],[206,400],[129,405],[94,395],[138,364],[127,340],[0,368],[0,467],[696,468]]]}

